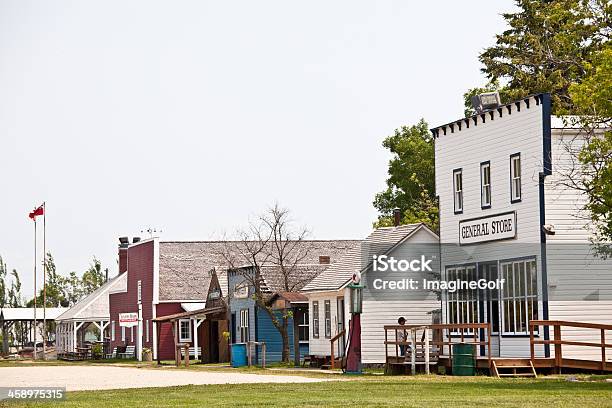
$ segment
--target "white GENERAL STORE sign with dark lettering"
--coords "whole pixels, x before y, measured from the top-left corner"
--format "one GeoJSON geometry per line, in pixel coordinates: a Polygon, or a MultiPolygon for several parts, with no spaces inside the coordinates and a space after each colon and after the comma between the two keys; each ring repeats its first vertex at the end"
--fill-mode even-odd
{"type": "Polygon", "coordinates": [[[515,211],[459,221],[459,244],[461,245],[515,237],[515,211]]]}

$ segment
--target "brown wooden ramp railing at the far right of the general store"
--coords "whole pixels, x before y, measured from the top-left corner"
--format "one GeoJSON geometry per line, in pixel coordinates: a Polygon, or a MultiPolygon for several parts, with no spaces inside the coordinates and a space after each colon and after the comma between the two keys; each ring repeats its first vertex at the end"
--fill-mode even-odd
{"type": "MultiPolygon", "coordinates": [[[[601,361],[600,366],[602,371],[606,371],[606,349],[612,348],[612,343],[606,343],[606,331],[612,330],[611,324],[599,324],[599,323],[584,323],[584,322],[568,322],[564,320],[531,320],[529,322],[529,347],[531,352],[531,361],[536,359],[535,356],[535,345],[536,344],[552,344],[555,350],[555,367],[560,370],[563,366],[563,345],[570,346],[584,346],[584,347],[598,347],[601,349],[601,361]],[[534,336],[534,328],[536,326],[552,327],[553,328],[553,339],[552,340],[539,340],[534,336]],[[582,328],[592,329],[599,331],[599,342],[586,342],[586,341],[572,341],[563,340],[562,328],[582,328]]],[[[542,333],[542,331],[540,331],[542,333]]]]}

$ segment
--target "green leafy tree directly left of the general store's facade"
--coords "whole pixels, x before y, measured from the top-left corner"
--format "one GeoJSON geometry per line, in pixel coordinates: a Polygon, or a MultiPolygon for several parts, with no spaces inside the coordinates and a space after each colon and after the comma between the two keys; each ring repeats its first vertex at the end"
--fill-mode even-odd
{"type": "Polygon", "coordinates": [[[438,205],[434,190],[434,143],[427,122],[402,126],[383,141],[393,157],[389,161],[387,188],[376,194],[379,216],[375,227],[393,225],[399,208],[401,223],[424,222],[438,229],[438,205]]]}

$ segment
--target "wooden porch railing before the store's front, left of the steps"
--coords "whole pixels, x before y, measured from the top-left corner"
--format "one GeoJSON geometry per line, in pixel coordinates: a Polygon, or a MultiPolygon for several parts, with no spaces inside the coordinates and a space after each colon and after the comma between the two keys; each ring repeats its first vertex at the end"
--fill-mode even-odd
{"type": "MultiPolygon", "coordinates": [[[[419,325],[389,325],[385,329],[385,358],[389,364],[389,346],[395,346],[395,360],[400,361],[400,346],[411,346],[420,348],[432,348],[437,346],[440,355],[444,354],[444,347],[448,346],[448,358],[452,359],[453,344],[465,343],[484,347],[488,359],[488,366],[491,368],[491,325],[490,323],[457,323],[457,324],[419,324],[419,325]],[[398,341],[399,332],[410,332],[412,329],[427,329],[427,335],[431,332],[432,339],[422,339],[421,341],[398,341]],[[393,333],[392,340],[389,339],[389,332],[393,333]],[[414,344],[413,344],[414,343],[414,344]]],[[[414,335],[413,335],[414,336],[414,335]]],[[[404,336],[405,337],[405,336],[404,336]]],[[[425,351],[430,353],[431,350],[425,351]]],[[[414,354],[414,353],[413,353],[414,354]]]]}

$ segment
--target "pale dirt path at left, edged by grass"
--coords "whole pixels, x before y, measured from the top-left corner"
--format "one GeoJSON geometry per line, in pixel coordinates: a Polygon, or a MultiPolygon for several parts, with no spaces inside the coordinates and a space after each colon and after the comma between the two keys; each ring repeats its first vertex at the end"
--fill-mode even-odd
{"type": "Polygon", "coordinates": [[[169,387],[188,384],[309,383],[326,381],[288,375],[159,370],[113,366],[0,367],[0,387],[66,387],[68,391],[169,387]]]}

